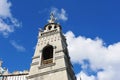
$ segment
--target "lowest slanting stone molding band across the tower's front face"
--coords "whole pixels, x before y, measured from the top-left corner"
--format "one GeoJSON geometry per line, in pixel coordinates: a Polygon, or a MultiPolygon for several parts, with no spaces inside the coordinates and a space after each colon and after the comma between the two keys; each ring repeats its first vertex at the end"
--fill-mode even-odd
{"type": "Polygon", "coordinates": [[[30,79],[30,78],[39,77],[39,76],[43,76],[43,75],[47,75],[47,74],[51,74],[51,73],[55,73],[55,72],[59,72],[59,71],[64,71],[64,70],[66,70],[66,67],[51,70],[51,71],[46,71],[46,72],[42,72],[42,73],[38,73],[38,74],[35,74],[35,75],[30,75],[27,78],[30,79]]]}

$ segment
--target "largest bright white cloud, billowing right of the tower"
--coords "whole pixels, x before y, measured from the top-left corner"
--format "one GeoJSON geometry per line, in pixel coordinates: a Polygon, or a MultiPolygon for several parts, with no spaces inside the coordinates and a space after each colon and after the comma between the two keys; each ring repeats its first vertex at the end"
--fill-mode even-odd
{"type": "MultiPolygon", "coordinates": [[[[120,42],[105,46],[102,39],[65,34],[71,61],[81,65],[82,80],[120,80],[120,42]]],[[[79,77],[78,77],[79,80],[79,77]]]]}

